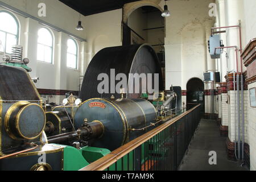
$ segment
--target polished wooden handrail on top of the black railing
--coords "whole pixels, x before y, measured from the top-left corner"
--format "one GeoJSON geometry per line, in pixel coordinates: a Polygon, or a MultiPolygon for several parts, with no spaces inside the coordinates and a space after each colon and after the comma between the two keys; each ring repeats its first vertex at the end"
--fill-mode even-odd
{"type": "Polygon", "coordinates": [[[104,171],[106,168],[110,167],[112,164],[116,163],[119,159],[123,158],[123,156],[129,154],[135,148],[141,146],[148,139],[153,138],[155,135],[159,134],[167,127],[171,126],[175,122],[179,121],[179,119],[183,118],[185,115],[188,115],[193,110],[195,110],[199,105],[193,107],[192,109],[185,111],[183,114],[178,115],[177,117],[170,119],[169,121],[163,123],[162,125],[156,127],[155,129],[148,131],[148,133],[141,135],[140,137],[132,140],[129,143],[117,148],[110,154],[102,157],[101,159],[96,160],[92,164],[80,169],[79,171],[104,171]]]}

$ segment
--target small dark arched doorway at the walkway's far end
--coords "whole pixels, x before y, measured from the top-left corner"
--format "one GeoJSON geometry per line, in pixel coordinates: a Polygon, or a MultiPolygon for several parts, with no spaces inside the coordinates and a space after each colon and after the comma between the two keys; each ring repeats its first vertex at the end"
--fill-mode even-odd
{"type": "Polygon", "coordinates": [[[205,113],[204,82],[199,78],[191,78],[187,83],[187,110],[201,104],[201,113],[205,113]]]}

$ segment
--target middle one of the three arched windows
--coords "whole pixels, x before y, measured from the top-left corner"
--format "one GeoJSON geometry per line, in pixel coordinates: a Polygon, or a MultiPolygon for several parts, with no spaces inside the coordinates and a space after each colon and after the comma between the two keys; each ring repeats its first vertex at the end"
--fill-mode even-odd
{"type": "Polygon", "coordinates": [[[38,31],[38,61],[52,63],[53,36],[47,28],[38,31]]]}

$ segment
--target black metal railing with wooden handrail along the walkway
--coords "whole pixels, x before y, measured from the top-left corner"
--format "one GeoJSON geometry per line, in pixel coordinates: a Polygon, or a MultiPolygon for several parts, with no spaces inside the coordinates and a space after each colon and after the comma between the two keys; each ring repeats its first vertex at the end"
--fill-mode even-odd
{"type": "Polygon", "coordinates": [[[199,125],[200,109],[185,111],[81,171],[176,171],[199,125]]]}

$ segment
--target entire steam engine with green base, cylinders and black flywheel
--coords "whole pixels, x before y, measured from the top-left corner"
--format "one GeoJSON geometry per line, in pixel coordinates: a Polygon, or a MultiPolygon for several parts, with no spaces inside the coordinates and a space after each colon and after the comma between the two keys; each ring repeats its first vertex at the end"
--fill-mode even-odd
{"type": "MultiPolygon", "coordinates": [[[[0,65],[0,170],[78,170],[181,110],[177,87],[155,92],[151,100],[148,90],[97,92],[99,82],[94,80],[98,73],[110,75],[110,69],[127,77],[158,73],[162,84],[158,59],[147,45],[98,52],[85,73],[81,99],[71,94],[53,108],[43,104],[27,73],[30,69],[23,69],[25,63],[11,61],[0,65]]],[[[129,77],[128,87],[132,80],[129,77]]],[[[163,90],[163,85],[159,87],[163,90]]]]}

